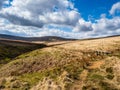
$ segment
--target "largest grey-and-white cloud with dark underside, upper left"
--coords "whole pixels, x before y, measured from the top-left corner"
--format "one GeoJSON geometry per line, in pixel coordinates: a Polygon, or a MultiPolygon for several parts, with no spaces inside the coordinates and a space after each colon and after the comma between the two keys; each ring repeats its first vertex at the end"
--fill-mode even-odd
{"type": "Polygon", "coordinates": [[[80,17],[68,0],[13,0],[0,14],[14,24],[39,28],[47,24],[74,26],[80,17]]]}

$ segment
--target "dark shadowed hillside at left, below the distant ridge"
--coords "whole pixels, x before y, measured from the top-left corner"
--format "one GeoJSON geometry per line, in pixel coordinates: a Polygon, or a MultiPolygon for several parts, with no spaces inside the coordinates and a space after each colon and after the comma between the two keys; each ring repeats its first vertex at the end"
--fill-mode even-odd
{"type": "Polygon", "coordinates": [[[44,47],[45,44],[0,41],[0,64],[6,64],[21,54],[44,47]]]}

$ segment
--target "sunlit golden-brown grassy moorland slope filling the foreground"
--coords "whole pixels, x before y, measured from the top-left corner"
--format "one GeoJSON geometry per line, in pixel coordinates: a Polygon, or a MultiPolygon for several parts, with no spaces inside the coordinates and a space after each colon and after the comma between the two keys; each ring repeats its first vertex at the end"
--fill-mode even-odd
{"type": "Polygon", "coordinates": [[[119,67],[120,37],[73,41],[37,49],[4,64],[0,88],[119,90],[119,67]]]}

